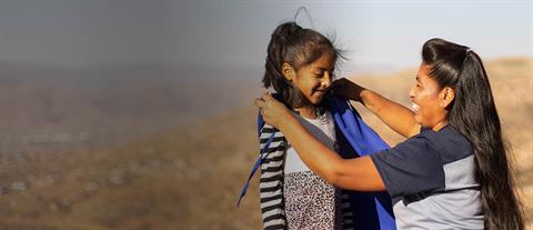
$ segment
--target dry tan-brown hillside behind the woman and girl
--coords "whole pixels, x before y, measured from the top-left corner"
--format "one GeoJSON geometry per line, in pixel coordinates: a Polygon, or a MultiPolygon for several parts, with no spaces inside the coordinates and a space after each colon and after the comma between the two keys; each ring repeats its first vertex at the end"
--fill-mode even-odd
{"type": "MultiPolygon", "coordinates": [[[[486,63],[530,218],[532,63],[522,58],[486,63]]],[[[406,102],[413,71],[353,79],[406,102]]],[[[251,103],[257,94],[245,97],[251,103]]],[[[389,143],[402,140],[359,110],[389,143]]],[[[258,154],[255,116],[255,108],[244,107],[118,147],[2,158],[0,229],[259,229],[258,177],[242,207],[234,206],[258,154]]]]}

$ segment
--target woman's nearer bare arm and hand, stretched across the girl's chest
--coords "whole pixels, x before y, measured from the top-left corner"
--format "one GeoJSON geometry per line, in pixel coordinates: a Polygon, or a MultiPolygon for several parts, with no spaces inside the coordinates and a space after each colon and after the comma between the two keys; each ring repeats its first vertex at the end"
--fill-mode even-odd
{"type": "Polygon", "coordinates": [[[270,94],[255,100],[266,123],[280,129],[302,161],[329,183],[350,190],[382,191],[385,189],[370,157],[342,159],[316,140],[281,102],[270,94]]]}

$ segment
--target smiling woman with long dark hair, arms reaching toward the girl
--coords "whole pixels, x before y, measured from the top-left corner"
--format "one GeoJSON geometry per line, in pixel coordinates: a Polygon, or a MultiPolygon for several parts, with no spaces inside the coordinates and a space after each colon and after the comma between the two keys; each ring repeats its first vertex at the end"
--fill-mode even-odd
{"type": "Polygon", "coordinates": [[[422,50],[413,111],[348,80],[335,92],[362,102],[409,139],[370,157],[344,160],[309,134],[286,108],[255,100],[311,170],[331,184],[384,190],[399,229],[523,229],[520,202],[487,76],[464,46],[429,40],[422,50]],[[421,127],[421,128],[420,128],[421,127]]]}

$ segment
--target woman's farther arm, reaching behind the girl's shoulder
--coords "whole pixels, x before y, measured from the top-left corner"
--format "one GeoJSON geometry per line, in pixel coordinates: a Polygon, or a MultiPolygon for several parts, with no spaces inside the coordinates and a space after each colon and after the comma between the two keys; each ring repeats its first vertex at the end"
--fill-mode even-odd
{"type": "Polygon", "coordinates": [[[414,122],[413,111],[374,91],[364,89],[343,78],[333,83],[333,92],[360,101],[386,126],[405,138],[420,132],[420,126],[414,122]]]}

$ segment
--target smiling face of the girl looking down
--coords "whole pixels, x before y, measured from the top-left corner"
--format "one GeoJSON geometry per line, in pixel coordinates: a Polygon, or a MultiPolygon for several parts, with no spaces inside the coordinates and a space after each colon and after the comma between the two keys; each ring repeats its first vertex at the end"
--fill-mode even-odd
{"type": "Polygon", "coordinates": [[[294,87],[299,88],[312,104],[319,104],[330,89],[334,64],[332,58],[322,56],[313,63],[300,68],[295,71],[294,87]]]}

